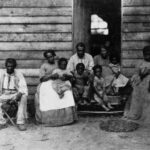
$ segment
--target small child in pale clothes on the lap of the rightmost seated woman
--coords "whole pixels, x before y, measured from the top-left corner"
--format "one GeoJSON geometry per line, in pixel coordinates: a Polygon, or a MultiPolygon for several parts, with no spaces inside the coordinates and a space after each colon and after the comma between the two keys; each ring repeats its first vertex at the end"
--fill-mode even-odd
{"type": "Polygon", "coordinates": [[[118,95],[119,89],[123,89],[127,85],[129,79],[121,74],[119,60],[115,54],[110,57],[109,67],[112,74],[105,78],[107,94],[118,95]]]}

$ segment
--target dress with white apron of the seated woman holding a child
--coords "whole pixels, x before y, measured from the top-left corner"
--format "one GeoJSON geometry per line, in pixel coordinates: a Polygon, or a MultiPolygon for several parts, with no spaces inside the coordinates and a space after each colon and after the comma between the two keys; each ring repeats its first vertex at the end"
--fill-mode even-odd
{"type": "MultiPolygon", "coordinates": [[[[43,64],[40,75],[50,75],[57,65],[43,64]],[[45,73],[44,73],[45,72],[45,73]]],[[[42,76],[41,76],[42,77],[42,76]]],[[[62,126],[77,120],[72,91],[66,91],[60,99],[52,87],[53,80],[42,82],[35,95],[36,120],[48,126],[62,126]]]]}

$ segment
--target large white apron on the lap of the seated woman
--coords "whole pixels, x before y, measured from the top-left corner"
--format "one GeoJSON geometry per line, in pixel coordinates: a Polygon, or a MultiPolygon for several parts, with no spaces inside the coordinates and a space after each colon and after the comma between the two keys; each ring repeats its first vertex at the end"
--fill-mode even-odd
{"type": "Polygon", "coordinates": [[[58,94],[52,88],[52,82],[52,80],[49,80],[47,82],[43,82],[40,86],[40,110],[48,111],[75,106],[72,91],[66,91],[64,93],[64,97],[60,99],[58,94]]]}

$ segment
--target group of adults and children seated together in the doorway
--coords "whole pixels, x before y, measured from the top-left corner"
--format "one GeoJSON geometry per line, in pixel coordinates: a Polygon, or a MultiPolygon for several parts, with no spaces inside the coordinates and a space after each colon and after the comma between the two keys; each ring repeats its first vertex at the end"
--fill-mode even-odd
{"type": "Polygon", "coordinates": [[[106,111],[112,108],[107,95],[126,94],[129,79],[121,74],[119,59],[114,53],[110,57],[104,46],[94,59],[85,53],[85,45],[78,43],[77,53],[66,66],[72,73],[72,89],[77,104],[97,102],[106,111]],[[124,92],[122,92],[124,91],[124,92]]]}

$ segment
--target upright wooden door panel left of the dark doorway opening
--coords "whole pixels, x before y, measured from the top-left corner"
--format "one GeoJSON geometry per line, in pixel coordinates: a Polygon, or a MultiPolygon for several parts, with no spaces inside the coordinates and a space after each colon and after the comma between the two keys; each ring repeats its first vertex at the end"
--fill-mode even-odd
{"type": "Polygon", "coordinates": [[[86,45],[86,51],[90,50],[90,9],[87,0],[74,0],[73,8],[73,47],[76,50],[76,44],[83,42],[86,45]]]}

